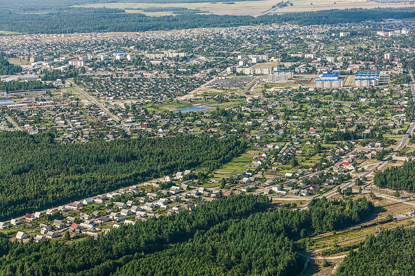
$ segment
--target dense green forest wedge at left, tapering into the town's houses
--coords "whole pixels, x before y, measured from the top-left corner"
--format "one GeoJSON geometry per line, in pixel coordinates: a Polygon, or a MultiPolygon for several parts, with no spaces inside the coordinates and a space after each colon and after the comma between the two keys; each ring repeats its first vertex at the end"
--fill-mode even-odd
{"type": "Polygon", "coordinates": [[[45,209],[168,173],[219,167],[244,149],[188,135],[56,144],[53,136],[0,132],[0,218],[45,209]]]}

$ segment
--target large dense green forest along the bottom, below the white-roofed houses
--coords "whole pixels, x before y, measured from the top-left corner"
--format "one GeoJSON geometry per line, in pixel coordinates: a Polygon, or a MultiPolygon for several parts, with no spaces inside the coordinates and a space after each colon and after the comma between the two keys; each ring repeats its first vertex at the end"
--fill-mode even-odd
{"type": "Polygon", "coordinates": [[[120,226],[98,240],[8,242],[0,236],[1,275],[298,275],[294,240],[357,223],[373,214],[366,198],[313,199],[303,211],[269,210],[264,195],[230,196],[195,211],[120,226]],[[336,214],[335,224],[313,215],[336,214]],[[360,214],[353,216],[354,212],[360,214]],[[340,214],[340,215],[339,215],[340,214]],[[166,249],[166,245],[173,248],[166,249]],[[2,253],[1,253],[2,252],[2,253]]]}

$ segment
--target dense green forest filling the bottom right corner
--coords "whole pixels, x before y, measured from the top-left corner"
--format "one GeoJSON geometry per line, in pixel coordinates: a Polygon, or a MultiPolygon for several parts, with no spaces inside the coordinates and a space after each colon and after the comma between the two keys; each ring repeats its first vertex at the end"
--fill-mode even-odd
{"type": "Polygon", "coordinates": [[[336,276],[415,275],[415,229],[395,228],[371,235],[350,251],[336,276]]]}

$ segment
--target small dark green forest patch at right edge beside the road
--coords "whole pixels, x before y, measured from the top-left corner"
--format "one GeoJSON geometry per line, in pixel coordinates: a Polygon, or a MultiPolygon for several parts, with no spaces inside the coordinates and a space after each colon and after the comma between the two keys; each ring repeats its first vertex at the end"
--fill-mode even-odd
{"type": "Polygon", "coordinates": [[[402,167],[393,166],[376,173],[374,184],[393,190],[415,191],[415,161],[405,161],[402,167]]]}

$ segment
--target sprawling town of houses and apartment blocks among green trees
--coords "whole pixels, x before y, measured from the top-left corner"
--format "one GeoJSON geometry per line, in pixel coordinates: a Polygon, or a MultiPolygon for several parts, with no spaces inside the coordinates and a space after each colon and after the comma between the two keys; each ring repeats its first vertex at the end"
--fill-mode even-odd
{"type": "Polygon", "coordinates": [[[1,130],[61,144],[234,137],[245,149],[215,170],[172,171],[33,210],[0,232],[24,243],[96,240],[238,194],[290,210],[366,196],[383,208],[378,221],[413,217],[413,192],[373,180],[415,159],[414,32],[414,22],[386,19],[3,36],[1,130]]]}

